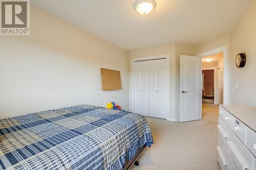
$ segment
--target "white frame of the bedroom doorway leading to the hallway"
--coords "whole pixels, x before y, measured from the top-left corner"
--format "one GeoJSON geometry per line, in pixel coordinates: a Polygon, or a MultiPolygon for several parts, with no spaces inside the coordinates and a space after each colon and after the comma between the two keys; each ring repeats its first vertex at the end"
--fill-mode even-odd
{"type": "MultiPolygon", "coordinates": [[[[223,104],[228,105],[229,104],[229,66],[228,66],[228,56],[227,56],[227,46],[222,46],[219,48],[216,48],[214,50],[210,50],[204,53],[197,54],[198,57],[206,57],[210,55],[214,55],[217,53],[223,53],[223,73],[224,73],[224,79],[223,79],[223,104]]],[[[201,61],[202,62],[202,61],[201,61]]],[[[202,64],[201,64],[201,71],[202,71],[202,64]]],[[[202,77],[201,77],[202,79],[202,77]]],[[[201,80],[202,82],[202,80],[201,80]]],[[[201,88],[201,119],[202,119],[202,88],[201,88]]]]}

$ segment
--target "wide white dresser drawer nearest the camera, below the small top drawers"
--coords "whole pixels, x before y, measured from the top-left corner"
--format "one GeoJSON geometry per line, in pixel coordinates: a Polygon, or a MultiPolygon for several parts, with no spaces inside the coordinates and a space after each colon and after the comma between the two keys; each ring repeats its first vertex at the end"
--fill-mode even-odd
{"type": "Polygon", "coordinates": [[[238,169],[252,170],[252,154],[229,129],[228,151],[238,169]]]}

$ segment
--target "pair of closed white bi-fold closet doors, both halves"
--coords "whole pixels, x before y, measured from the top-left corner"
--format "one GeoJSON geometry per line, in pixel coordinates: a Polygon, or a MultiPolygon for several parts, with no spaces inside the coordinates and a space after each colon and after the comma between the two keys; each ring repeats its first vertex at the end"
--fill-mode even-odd
{"type": "Polygon", "coordinates": [[[134,63],[134,112],[144,116],[166,118],[167,59],[134,63]]]}

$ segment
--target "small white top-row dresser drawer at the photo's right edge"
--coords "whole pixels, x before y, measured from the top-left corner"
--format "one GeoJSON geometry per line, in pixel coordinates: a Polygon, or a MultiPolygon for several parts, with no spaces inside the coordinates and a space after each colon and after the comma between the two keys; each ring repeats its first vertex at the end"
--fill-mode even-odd
{"type": "MultiPolygon", "coordinates": [[[[248,127],[246,127],[246,147],[256,157],[256,133],[248,127]]],[[[256,166],[256,164],[254,166],[256,166]]]]}

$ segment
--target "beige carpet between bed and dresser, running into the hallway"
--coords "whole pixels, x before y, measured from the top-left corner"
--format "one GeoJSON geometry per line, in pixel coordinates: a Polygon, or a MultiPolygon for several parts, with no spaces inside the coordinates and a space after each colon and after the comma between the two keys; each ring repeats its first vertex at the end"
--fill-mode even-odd
{"type": "Polygon", "coordinates": [[[220,169],[217,162],[218,106],[203,104],[202,120],[179,123],[146,118],[155,143],[131,169],[220,169]]]}

